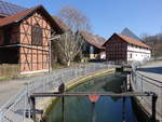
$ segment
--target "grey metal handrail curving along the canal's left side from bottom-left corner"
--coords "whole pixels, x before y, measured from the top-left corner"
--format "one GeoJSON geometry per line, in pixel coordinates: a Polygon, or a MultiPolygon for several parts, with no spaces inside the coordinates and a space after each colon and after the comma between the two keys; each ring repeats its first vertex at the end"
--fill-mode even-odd
{"type": "MultiPolygon", "coordinates": [[[[3,106],[0,107],[0,122],[4,122],[3,120],[16,122],[17,120],[14,120],[15,118],[13,118],[14,114],[11,117],[8,113],[10,111],[12,111],[13,109],[15,109],[15,110],[19,109],[19,108],[16,108],[19,105],[21,106],[28,106],[29,108],[27,108],[27,109],[30,109],[30,105],[29,105],[30,103],[28,101],[28,95],[31,92],[49,91],[49,89],[51,89],[51,87],[49,87],[49,84],[52,84],[52,86],[55,86],[55,85],[57,85],[57,83],[63,82],[62,79],[65,77],[64,76],[65,73],[66,73],[67,79],[65,79],[64,82],[67,82],[70,79],[75,79],[76,77],[80,77],[80,76],[86,74],[89,72],[95,72],[96,70],[108,69],[108,68],[111,68],[111,67],[109,67],[106,64],[102,64],[102,65],[100,64],[96,65],[95,63],[94,64],[84,64],[84,65],[79,65],[79,67],[75,66],[72,68],[65,68],[66,72],[65,72],[65,69],[59,69],[59,70],[55,70],[55,71],[49,73],[45,77],[41,76],[41,77],[36,77],[33,79],[30,79],[27,82],[27,85],[25,87],[21,89],[16,93],[16,95],[11,97],[8,103],[5,103],[3,106]],[[68,69],[70,69],[70,70],[68,70],[68,69]],[[84,73],[82,73],[82,71],[84,73]],[[75,72],[75,76],[72,76],[73,72],[75,72]],[[58,76],[60,76],[60,77],[58,77],[60,79],[55,79],[57,73],[58,73],[58,76]],[[44,82],[38,82],[41,80],[44,80],[44,82]],[[53,83],[53,81],[56,81],[56,82],[53,83]]],[[[12,112],[14,112],[14,111],[12,111],[12,112]]],[[[29,114],[30,114],[30,112],[29,112],[29,114]]],[[[23,121],[25,122],[26,121],[24,119],[25,118],[25,111],[24,111],[24,114],[22,117],[23,118],[21,118],[21,119],[23,119],[23,121]]]]}

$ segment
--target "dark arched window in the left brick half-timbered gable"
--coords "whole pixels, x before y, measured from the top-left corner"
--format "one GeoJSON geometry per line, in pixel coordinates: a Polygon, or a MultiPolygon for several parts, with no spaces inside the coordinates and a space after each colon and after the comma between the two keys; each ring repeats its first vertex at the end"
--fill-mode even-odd
{"type": "Polygon", "coordinates": [[[36,24],[31,27],[31,43],[33,45],[42,45],[42,28],[36,24]]]}

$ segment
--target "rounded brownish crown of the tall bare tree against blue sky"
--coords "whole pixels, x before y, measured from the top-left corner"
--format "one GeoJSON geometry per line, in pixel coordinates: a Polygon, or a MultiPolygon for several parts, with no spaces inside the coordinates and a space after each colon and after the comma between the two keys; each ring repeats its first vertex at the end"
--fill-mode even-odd
{"type": "Polygon", "coordinates": [[[90,30],[90,21],[79,10],[73,6],[66,5],[58,12],[58,17],[68,26],[73,32],[78,30],[90,30]]]}

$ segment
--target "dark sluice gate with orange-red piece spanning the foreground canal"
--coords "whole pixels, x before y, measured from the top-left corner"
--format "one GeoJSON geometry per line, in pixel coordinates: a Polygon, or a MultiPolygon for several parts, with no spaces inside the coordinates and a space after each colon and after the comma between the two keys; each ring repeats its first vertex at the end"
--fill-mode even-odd
{"type": "MultiPolygon", "coordinates": [[[[65,110],[64,110],[64,104],[65,104],[65,97],[75,97],[75,96],[86,96],[89,97],[90,101],[92,103],[92,122],[95,122],[96,120],[96,114],[95,114],[95,103],[99,99],[99,97],[105,97],[105,96],[113,96],[113,97],[122,97],[123,98],[123,107],[124,107],[124,101],[126,97],[136,97],[136,96],[143,96],[143,97],[151,97],[151,103],[152,103],[152,117],[151,117],[151,122],[157,122],[156,119],[156,103],[157,103],[157,94],[152,92],[123,92],[123,93],[113,93],[113,92],[65,92],[65,86],[62,84],[58,87],[58,92],[45,92],[45,93],[33,93],[30,95],[30,105],[31,105],[31,116],[33,121],[36,122],[36,116],[39,113],[36,108],[36,98],[40,97],[59,97],[62,98],[62,121],[65,122],[65,110]]],[[[124,110],[124,109],[123,109],[124,110]]],[[[124,112],[123,113],[123,122],[124,122],[124,112]]]]}

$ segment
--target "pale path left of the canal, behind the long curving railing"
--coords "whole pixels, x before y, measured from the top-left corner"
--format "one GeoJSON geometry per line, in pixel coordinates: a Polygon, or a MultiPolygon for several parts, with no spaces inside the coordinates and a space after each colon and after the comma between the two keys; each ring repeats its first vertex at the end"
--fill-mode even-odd
{"type": "MultiPolygon", "coordinates": [[[[68,80],[70,77],[79,77],[79,74],[81,76],[83,72],[83,69],[85,72],[89,71],[95,71],[94,68],[96,67],[96,70],[98,70],[99,66],[104,66],[105,68],[107,68],[107,64],[81,64],[78,66],[72,66],[69,68],[65,68],[65,69],[57,69],[54,70],[52,73],[54,73],[54,78],[59,78],[59,76],[62,76],[62,79],[55,79],[55,80],[59,80],[59,82],[62,80],[68,80]],[[83,67],[84,66],[84,67],[83,67]],[[73,70],[76,72],[76,74],[73,76],[72,72],[70,72],[71,70],[73,70]],[[63,74],[62,74],[63,73],[63,74]],[[68,74],[66,78],[64,74],[68,74]],[[72,73],[72,74],[71,74],[72,73]]],[[[48,73],[49,74],[49,73],[48,73]]],[[[0,81],[0,107],[3,106],[5,103],[8,103],[12,97],[14,97],[17,93],[19,93],[21,90],[23,90],[26,85],[27,82],[33,82],[33,81],[39,81],[36,83],[37,85],[40,85],[40,81],[42,80],[42,78],[44,77],[45,80],[45,76],[46,73],[39,73],[37,76],[30,76],[27,78],[22,78],[22,79],[16,79],[16,80],[10,80],[10,81],[0,81]],[[38,77],[38,79],[37,79],[38,77]]],[[[49,80],[53,80],[52,78],[50,78],[49,80]]],[[[41,83],[42,84],[42,83],[41,83]]],[[[55,85],[55,84],[53,84],[55,85]]],[[[48,86],[48,84],[46,84],[48,86]]]]}

